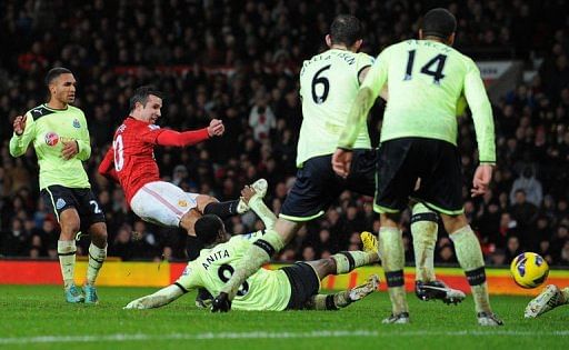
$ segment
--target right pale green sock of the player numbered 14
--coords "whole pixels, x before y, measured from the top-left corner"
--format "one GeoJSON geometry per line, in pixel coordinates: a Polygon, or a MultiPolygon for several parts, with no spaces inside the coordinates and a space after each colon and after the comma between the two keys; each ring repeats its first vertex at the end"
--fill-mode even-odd
{"type": "Polygon", "coordinates": [[[468,283],[472,290],[476,311],[491,313],[488,284],[486,282],[485,260],[478,238],[468,224],[452,232],[449,237],[455,243],[458,262],[462,270],[465,270],[468,283]]]}

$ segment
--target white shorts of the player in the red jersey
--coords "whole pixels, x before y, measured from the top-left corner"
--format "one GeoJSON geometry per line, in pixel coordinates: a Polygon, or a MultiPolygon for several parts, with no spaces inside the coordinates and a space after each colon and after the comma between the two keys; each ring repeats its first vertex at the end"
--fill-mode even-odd
{"type": "Polygon", "coordinates": [[[183,214],[198,206],[198,196],[199,193],[184,192],[170,182],[149,182],[132,197],[130,208],[144,221],[179,227],[183,214]]]}

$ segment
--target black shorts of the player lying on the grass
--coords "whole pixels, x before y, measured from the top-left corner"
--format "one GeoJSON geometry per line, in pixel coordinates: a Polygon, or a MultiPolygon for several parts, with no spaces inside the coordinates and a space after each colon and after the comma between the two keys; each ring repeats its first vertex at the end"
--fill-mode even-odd
{"type": "Polygon", "coordinates": [[[290,300],[286,310],[302,310],[312,296],[320,290],[320,280],[315,269],[306,262],[295,262],[281,269],[290,282],[290,300]]]}

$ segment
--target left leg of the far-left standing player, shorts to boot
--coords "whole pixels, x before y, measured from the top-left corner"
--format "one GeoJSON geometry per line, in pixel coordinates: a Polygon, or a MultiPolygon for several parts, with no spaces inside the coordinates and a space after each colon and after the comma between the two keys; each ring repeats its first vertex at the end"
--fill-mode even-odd
{"type": "Polygon", "coordinates": [[[50,186],[42,190],[42,198],[56,216],[61,228],[58,240],[58,256],[66,300],[68,302],[83,302],[84,297],[74,283],[76,234],[79,233],[81,221],[76,209],[77,203],[73,193],[68,188],[50,186]]]}

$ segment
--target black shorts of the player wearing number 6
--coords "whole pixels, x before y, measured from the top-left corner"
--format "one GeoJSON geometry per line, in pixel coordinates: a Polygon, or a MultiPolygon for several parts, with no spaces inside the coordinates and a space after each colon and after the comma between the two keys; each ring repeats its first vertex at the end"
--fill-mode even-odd
{"type": "Polygon", "coordinates": [[[297,180],[282,204],[280,217],[290,221],[309,221],[325,213],[345,190],[373,197],[376,192],[376,150],[355,150],[350,176],[333,172],[332,156],[307,160],[297,171],[297,180]]]}

